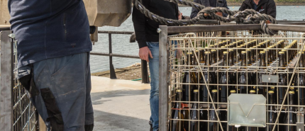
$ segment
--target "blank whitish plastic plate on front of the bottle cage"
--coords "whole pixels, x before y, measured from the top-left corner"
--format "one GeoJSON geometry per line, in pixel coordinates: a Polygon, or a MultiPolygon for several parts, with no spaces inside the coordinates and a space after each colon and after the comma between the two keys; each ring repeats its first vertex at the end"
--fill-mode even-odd
{"type": "Polygon", "coordinates": [[[266,98],[257,94],[231,94],[228,97],[228,125],[266,126],[266,98]]]}

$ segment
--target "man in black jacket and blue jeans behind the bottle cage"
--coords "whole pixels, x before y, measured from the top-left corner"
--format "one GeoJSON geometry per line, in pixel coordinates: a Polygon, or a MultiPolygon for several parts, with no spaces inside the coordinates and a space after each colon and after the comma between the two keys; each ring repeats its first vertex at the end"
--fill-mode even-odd
{"type": "MultiPolygon", "coordinates": [[[[164,0],[142,0],[149,11],[164,18],[178,19],[178,5],[164,0]]],[[[139,56],[149,62],[150,68],[150,130],[159,129],[159,23],[145,17],[133,7],[133,26],[139,45],[139,56]]],[[[167,88],[167,87],[162,87],[167,88]]]]}

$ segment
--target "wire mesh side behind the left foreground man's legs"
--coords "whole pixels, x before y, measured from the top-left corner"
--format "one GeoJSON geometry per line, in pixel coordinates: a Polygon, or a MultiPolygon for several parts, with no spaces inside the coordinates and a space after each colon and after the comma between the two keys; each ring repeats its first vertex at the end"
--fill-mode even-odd
{"type": "Polygon", "coordinates": [[[13,45],[13,131],[38,130],[38,113],[17,76],[17,49],[13,45]]]}

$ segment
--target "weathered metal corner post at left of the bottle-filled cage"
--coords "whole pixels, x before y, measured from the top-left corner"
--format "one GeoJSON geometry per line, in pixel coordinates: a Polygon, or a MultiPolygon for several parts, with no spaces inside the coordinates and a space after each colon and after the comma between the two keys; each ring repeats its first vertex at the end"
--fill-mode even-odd
{"type": "Polygon", "coordinates": [[[167,26],[160,26],[159,33],[159,129],[167,131],[168,126],[168,51],[167,26]]]}

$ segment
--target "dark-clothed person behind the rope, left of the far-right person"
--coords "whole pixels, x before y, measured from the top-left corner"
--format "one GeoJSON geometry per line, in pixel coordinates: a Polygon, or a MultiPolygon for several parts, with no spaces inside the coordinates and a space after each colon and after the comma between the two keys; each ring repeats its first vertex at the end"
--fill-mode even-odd
{"type": "MultiPolygon", "coordinates": [[[[228,4],[226,0],[194,0],[195,3],[204,5],[206,7],[225,7],[228,8],[228,4]]],[[[196,8],[192,8],[191,18],[194,18],[199,13],[199,10],[196,8]]],[[[224,16],[226,17],[226,14],[222,14],[221,12],[216,13],[218,16],[224,16]]],[[[211,16],[208,16],[208,14],[204,14],[204,18],[211,19],[211,16]]]]}

